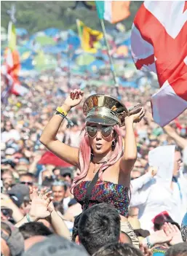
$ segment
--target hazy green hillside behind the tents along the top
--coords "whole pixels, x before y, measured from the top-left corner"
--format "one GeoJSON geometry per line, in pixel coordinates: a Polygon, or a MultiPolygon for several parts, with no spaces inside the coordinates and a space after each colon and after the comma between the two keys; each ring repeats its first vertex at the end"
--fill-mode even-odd
{"type": "MultiPolygon", "coordinates": [[[[131,28],[133,18],[143,1],[132,1],[130,4],[130,18],[123,23],[127,29],[131,28]]],[[[76,29],[76,18],[87,26],[100,30],[100,21],[95,10],[86,9],[76,1],[1,1],[1,26],[7,28],[9,15],[7,10],[15,4],[17,27],[26,28],[30,34],[45,28],[56,27],[60,29],[76,29]]],[[[106,22],[106,26],[114,26],[106,22]]]]}

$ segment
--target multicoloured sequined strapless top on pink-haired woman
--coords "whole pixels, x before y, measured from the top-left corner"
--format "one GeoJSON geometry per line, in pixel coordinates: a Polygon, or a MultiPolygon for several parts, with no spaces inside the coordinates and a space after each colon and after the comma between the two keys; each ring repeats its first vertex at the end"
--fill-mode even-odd
{"type": "MultiPolygon", "coordinates": [[[[90,181],[82,181],[74,187],[73,194],[81,206],[84,206],[84,198],[90,181]]],[[[128,206],[130,204],[129,188],[113,182],[101,182],[98,180],[92,189],[89,206],[97,203],[111,203],[118,210],[119,214],[128,217],[128,206]]]]}

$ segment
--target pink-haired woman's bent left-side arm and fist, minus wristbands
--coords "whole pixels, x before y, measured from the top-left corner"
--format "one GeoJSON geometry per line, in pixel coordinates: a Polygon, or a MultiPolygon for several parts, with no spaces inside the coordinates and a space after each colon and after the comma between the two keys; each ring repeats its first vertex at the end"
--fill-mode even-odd
{"type": "MultiPolygon", "coordinates": [[[[83,95],[84,93],[81,90],[71,91],[68,98],[65,99],[63,106],[61,106],[63,111],[68,113],[73,106],[80,104],[83,95]]],[[[54,115],[41,133],[40,141],[57,157],[79,168],[79,149],[70,147],[56,138],[57,131],[62,122],[62,116],[54,115]]]]}

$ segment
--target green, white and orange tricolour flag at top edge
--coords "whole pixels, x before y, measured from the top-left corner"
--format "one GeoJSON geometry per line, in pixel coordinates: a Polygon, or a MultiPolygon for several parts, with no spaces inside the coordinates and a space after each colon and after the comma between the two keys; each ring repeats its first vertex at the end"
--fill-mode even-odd
{"type": "Polygon", "coordinates": [[[117,23],[130,16],[130,1],[95,1],[101,20],[117,23]]]}

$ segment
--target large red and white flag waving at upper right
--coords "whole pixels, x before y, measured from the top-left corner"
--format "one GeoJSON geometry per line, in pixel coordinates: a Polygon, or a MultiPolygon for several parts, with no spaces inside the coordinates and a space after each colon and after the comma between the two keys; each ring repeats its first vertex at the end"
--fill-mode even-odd
{"type": "Polygon", "coordinates": [[[131,49],[137,69],[157,74],[152,113],[167,125],[187,108],[187,1],[145,1],[132,25],[131,49]]]}

